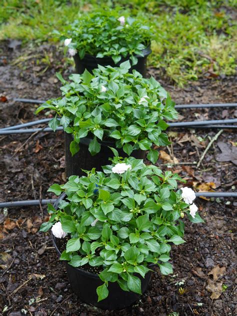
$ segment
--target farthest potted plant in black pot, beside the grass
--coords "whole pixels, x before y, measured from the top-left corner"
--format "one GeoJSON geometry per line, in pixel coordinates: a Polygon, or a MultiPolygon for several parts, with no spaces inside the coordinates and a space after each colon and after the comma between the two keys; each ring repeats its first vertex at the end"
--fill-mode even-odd
{"type": "Polygon", "coordinates": [[[145,76],[146,57],[151,52],[153,38],[148,24],[141,16],[133,18],[118,10],[101,9],[83,12],[66,27],[64,34],[56,34],[73,55],[77,73],[85,69],[91,72],[98,64],[114,67],[129,59],[131,70],[145,76]]]}

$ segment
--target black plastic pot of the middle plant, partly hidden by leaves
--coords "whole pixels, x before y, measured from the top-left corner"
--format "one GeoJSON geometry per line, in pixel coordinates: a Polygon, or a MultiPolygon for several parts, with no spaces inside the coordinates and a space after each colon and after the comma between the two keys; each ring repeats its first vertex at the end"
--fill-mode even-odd
{"type": "MultiPolygon", "coordinates": [[[[66,166],[66,176],[70,175],[85,175],[84,170],[91,170],[92,168],[96,168],[96,171],[102,171],[102,165],[110,164],[111,162],[108,158],[113,157],[113,152],[109,147],[115,148],[115,142],[112,141],[102,141],[100,142],[101,148],[100,151],[92,156],[88,150],[89,143],[91,141],[90,138],[81,138],[80,139],[80,150],[71,156],[70,153],[70,142],[72,140],[72,135],[68,133],[64,133],[65,137],[65,166],[66,166]]],[[[119,156],[127,157],[128,155],[122,150],[122,148],[116,148],[119,156]]],[[[145,158],[145,150],[134,150],[130,154],[130,156],[136,159],[144,159],[145,158]]]]}

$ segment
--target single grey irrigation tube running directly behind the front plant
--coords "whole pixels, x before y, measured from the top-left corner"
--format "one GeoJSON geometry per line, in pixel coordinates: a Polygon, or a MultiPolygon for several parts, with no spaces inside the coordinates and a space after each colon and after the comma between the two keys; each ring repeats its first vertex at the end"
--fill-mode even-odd
{"type": "MultiPolygon", "coordinates": [[[[205,197],[237,197],[237,192],[195,192],[196,197],[205,196],[205,197]]],[[[17,207],[17,206],[30,206],[30,205],[39,205],[54,203],[55,198],[50,199],[31,199],[31,200],[22,200],[22,201],[12,201],[12,202],[1,202],[0,208],[3,207],[17,207]]]]}

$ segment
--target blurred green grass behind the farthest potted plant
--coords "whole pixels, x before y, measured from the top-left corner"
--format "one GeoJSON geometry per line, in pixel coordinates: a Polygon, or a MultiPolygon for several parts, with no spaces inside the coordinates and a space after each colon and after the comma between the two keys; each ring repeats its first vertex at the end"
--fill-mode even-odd
{"type": "Polygon", "coordinates": [[[236,0],[2,0],[0,39],[18,38],[23,43],[55,40],[53,29],[61,30],[78,11],[96,5],[124,6],[131,14],[148,17],[156,41],[148,65],[179,85],[198,79],[207,71],[212,76],[235,72],[236,0]]]}

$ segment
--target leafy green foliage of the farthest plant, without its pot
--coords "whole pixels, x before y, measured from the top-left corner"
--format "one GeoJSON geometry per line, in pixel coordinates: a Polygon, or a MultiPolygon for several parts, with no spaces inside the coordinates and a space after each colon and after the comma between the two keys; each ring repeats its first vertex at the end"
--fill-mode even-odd
{"type": "Polygon", "coordinates": [[[81,59],[85,54],[98,58],[110,56],[117,63],[129,56],[132,64],[136,64],[136,56],[143,56],[142,50],[153,38],[148,24],[148,20],[127,16],[118,9],[99,9],[79,14],[60,39],[72,38],[68,48],[76,49],[81,59]],[[121,25],[118,18],[123,15],[125,22],[121,25]]]}

